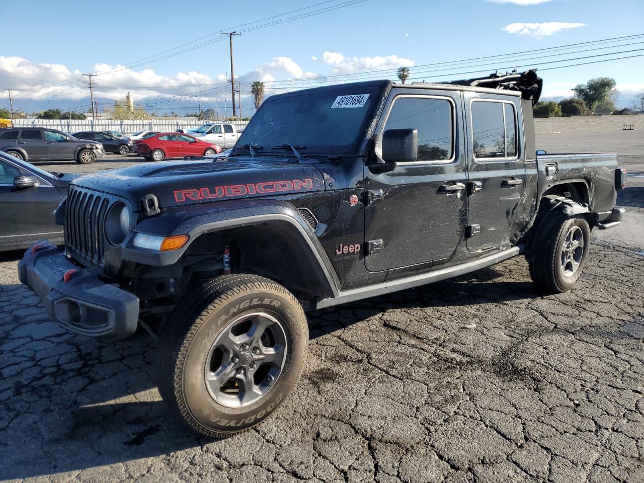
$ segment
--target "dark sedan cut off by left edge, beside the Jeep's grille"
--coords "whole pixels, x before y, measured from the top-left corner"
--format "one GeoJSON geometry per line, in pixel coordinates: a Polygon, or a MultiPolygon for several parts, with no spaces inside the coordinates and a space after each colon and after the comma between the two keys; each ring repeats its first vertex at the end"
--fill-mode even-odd
{"type": "Polygon", "coordinates": [[[43,171],[0,151],[0,251],[24,249],[42,238],[62,245],[53,211],[75,176],[43,171]]]}

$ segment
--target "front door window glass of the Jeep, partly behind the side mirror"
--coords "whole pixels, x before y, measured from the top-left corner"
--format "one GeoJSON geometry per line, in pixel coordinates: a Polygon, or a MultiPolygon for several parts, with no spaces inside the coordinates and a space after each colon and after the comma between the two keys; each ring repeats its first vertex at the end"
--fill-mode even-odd
{"type": "Polygon", "coordinates": [[[399,97],[384,125],[387,129],[418,129],[418,160],[445,161],[454,154],[453,104],[433,97],[399,97]]]}

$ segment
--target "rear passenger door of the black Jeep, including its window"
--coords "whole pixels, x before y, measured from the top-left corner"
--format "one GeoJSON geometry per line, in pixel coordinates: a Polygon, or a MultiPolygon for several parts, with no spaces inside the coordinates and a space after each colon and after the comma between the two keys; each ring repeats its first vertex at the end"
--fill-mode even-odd
{"type": "Polygon", "coordinates": [[[526,191],[526,158],[520,152],[519,98],[486,99],[466,92],[469,140],[468,250],[506,248],[526,191]]]}

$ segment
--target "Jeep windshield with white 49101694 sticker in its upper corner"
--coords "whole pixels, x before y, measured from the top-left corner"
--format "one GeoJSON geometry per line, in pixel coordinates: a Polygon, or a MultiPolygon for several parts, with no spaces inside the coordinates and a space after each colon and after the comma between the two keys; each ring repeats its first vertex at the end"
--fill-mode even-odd
{"type": "Polygon", "coordinates": [[[290,144],[306,153],[346,153],[361,133],[377,95],[375,87],[352,86],[268,99],[243,130],[238,146],[270,149],[290,144]]]}

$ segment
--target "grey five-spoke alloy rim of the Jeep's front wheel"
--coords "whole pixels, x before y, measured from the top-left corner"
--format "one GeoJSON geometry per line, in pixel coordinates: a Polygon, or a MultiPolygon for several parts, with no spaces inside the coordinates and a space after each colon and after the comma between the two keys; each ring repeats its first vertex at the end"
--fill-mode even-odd
{"type": "Polygon", "coordinates": [[[206,388],[222,406],[248,406],[275,385],[286,355],[286,334],[278,319],[266,312],[244,314],[211,346],[204,368],[206,388]]]}

